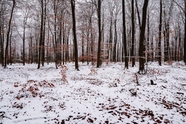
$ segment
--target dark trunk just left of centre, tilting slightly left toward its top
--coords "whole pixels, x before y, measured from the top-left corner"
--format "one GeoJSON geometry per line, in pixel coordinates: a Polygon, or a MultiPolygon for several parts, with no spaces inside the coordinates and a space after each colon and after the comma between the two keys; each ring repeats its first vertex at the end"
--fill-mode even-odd
{"type": "Polygon", "coordinates": [[[79,71],[78,67],[78,46],[77,46],[77,38],[76,38],[76,16],[75,16],[75,0],[71,0],[71,8],[72,8],[72,22],[73,22],[73,35],[74,35],[74,57],[75,57],[75,69],[79,71]]]}

